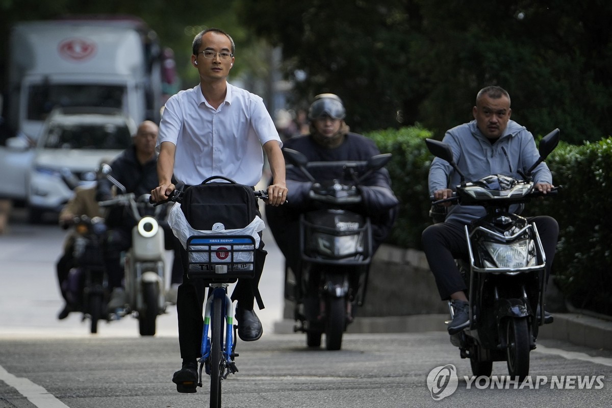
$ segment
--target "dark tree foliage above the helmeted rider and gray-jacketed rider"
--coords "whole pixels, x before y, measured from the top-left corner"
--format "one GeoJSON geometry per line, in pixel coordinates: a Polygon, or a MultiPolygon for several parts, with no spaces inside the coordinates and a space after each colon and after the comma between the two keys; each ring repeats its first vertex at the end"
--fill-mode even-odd
{"type": "Polygon", "coordinates": [[[497,84],[534,134],[559,127],[581,143],[611,133],[612,2],[241,3],[240,21],[282,47],[295,102],[334,92],[355,130],[420,122],[441,138],[497,84]]]}

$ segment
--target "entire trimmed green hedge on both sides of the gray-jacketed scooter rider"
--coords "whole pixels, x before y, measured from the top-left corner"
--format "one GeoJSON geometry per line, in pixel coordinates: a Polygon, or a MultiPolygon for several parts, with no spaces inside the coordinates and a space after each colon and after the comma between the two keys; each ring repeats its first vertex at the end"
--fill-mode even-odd
{"type": "MultiPolygon", "coordinates": [[[[416,126],[367,135],[393,158],[387,165],[400,212],[387,243],[422,250],[420,235],[428,216],[427,174],[433,158],[425,138],[433,135],[416,126]]],[[[553,275],[567,299],[578,308],[612,315],[612,138],[573,146],[560,143],[547,158],[561,192],[531,202],[524,215],[548,214],[560,234],[553,275]]]]}

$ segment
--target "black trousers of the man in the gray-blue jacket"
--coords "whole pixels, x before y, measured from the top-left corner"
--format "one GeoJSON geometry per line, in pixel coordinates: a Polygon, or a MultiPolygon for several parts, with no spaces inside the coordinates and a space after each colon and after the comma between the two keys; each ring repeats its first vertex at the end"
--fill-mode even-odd
{"type": "MultiPolygon", "coordinates": [[[[528,220],[535,224],[542,240],[548,282],[559,237],[559,224],[547,215],[531,217],[528,220]]],[[[469,257],[464,225],[452,221],[430,225],[423,231],[422,243],[427,262],[436,278],[440,299],[447,300],[451,294],[465,291],[467,287],[455,264],[455,259],[469,257]]]]}

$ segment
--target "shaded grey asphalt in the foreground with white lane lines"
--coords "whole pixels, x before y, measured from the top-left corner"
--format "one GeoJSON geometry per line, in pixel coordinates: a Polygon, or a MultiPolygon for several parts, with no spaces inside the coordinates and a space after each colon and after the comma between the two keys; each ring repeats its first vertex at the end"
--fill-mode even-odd
{"type": "MultiPolygon", "coordinates": [[[[532,384],[546,380],[538,389],[515,389],[511,383],[508,389],[491,389],[487,380],[479,382],[484,389],[473,382],[468,389],[463,376],[471,376],[469,362],[458,358],[441,332],[351,334],[337,352],[309,350],[300,335],[264,335],[255,343],[239,343],[240,371],[223,382],[223,406],[610,406],[612,356],[597,359],[558,348],[565,346],[547,344],[532,352],[532,384]],[[449,364],[457,369],[456,391],[435,401],[428,374],[449,364]],[[550,388],[553,376],[562,389],[550,388]],[[578,377],[572,383],[567,376],[588,376],[591,389],[578,389],[578,377]],[[603,377],[598,382],[593,376],[603,377]],[[565,389],[568,385],[572,388],[565,389]]],[[[207,388],[182,395],[170,382],[177,354],[176,340],[166,337],[2,339],[0,407],[207,406],[207,388]]],[[[493,374],[505,376],[504,363],[494,363],[493,374]]]]}

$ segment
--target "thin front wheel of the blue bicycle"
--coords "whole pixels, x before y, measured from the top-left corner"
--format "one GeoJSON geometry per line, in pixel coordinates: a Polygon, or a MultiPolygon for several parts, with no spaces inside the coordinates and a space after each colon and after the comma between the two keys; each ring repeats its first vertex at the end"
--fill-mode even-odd
{"type": "Polygon", "coordinates": [[[223,374],[223,302],[216,297],[212,302],[211,319],[211,408],[221,407],[221,376],[223,374]]]}

